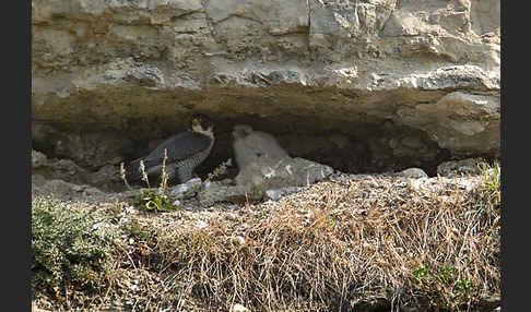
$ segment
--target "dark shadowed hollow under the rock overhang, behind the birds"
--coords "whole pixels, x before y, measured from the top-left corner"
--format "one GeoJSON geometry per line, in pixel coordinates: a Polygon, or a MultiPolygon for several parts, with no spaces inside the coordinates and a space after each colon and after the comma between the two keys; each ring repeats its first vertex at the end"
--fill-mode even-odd
{"type": "MultiPolygon", "coordinates": [[[[418,130],[393,125],[380,120],[376,123],[317,119],[293,115],[263,117],[239,115],[222,118],[209,113],[215,123],[215,144],[209,157],[196,168],[196,175],[206,179],[222,163],[232,159],[232,166],[216,179],[233,179],[238,173],[234,159],[232,131],[236,124],[249,124],[255,131],[272,134],[291,157],[302,157],[332,167],[344,173],[381,173],[411,167],[437,175],[437,165],[455,158],[418,130]]],[[[104,191],[121,191],[120,163],[145,156],[167,137],[184,131],[182,123],[156,119],[135,122],[127,130],[83,127],[82,124],[40,123],[34,129],[33,149],[50,159],[70,159],[83,175],[62,175],[67,182],[83,182],[104,191]],[[173,127],[168,125],[173,124],[173,127]],[[176,125],[177,124],[177,125],[176,125]],[[115,175],[104,181],[97,175],[115,175]],[[97,177],[97,178],[94,178],[97,177]],[[69,181],[70,179],[70,181],[69,181]]],[[[73,165],[72,165],[73,166],[73,165]]],[[[34,170],[45,178],[56,178],[48,170],[34,170]]]]}

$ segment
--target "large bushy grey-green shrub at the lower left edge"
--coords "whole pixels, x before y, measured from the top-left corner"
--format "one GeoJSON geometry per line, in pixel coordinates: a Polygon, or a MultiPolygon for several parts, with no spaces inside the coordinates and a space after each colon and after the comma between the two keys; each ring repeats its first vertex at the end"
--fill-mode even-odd
{"type": "Polygon", "coordinates": [[[97,220],[55,200],[32,203],[32,290],[61,298],[106,284],[111,238],[97,220]]]}

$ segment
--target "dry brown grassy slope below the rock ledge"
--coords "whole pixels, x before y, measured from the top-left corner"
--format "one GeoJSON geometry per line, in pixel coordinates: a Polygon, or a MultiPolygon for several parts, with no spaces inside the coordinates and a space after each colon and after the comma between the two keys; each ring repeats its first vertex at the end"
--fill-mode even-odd
{"type": "Polygon", "coordinates": [[[43,308],[231,311],[239,303],[250,311],[492,311],[499,305],[499,190],[493,193],[482,177],[342,179],[279,202],[201,213],[126,214],[127,206],[91,207],[115,238],[99,292],[70,290],[61,298],[39,292],[35,298],[43,308]]]}

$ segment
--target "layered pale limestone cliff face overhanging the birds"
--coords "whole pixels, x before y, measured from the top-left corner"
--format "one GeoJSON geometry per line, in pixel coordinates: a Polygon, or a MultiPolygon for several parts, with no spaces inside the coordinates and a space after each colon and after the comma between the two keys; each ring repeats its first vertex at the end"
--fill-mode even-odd
{"type": "Polygon", "coordinates": [[[93,171],[196,111],[210,166],[240,122],[350,171],[499,156],[499,1],[33,0],[32,23],[34,148],[93,171]]]}

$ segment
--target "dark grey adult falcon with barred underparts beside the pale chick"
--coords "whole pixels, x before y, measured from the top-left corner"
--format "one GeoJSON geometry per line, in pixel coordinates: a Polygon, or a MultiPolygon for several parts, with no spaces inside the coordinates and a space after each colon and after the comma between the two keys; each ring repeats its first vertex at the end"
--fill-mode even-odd
{"type": "Polygon", "coordinates": [[[192,178],[193,169],[201,164],[214,145],[214,124],[209,117],[197,113],[192,117],[191,128],[169,137],[145,157],[131,161],[127,170],[127,179],[138,181],[142,179],[140,160],[143,160],[148,176],[161,175],[164,149],[167,151],[165,171],[169,179],[175,176],[180,183],[192,178]]]}

